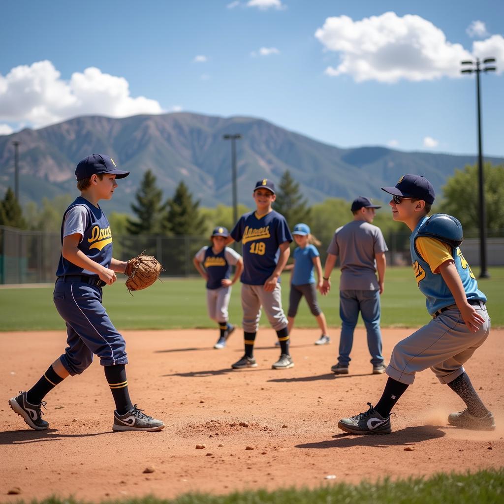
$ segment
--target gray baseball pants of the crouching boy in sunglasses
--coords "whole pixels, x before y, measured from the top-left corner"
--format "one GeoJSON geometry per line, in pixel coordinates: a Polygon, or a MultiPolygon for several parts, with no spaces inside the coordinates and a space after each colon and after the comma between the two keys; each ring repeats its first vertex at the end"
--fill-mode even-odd
{"type": "Polygon", "coordinates": [[[441,383],[453,382],[464,372],[463,364],[490,334],[485,305],[481,303],[475,308],[485,318],[477,332],[469,331],[457,307],[450,308],[394,347],[387,374],[411,385],[417,371],[430,367],[441,383]]]}

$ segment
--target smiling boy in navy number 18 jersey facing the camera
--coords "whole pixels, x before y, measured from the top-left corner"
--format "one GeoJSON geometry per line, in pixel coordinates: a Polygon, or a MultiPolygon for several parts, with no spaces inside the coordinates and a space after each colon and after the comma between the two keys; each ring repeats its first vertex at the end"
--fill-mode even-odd
{"type": "Polygon", "coordinates": [[[271,207],[276,199],[275,184],[271,180],[259,180],[253,197],[257,210],[242,215],[226,240],[226,244],[234,240],[243,244],[241,306],[245,355],[231,367],[257,367],[254,343],[262,306],[277,332],[281,348],[280,358],[272,367],[287,369],[293,367],[294,362],[289,353],[287,318],[282,309],[280,273],[289,258],[292,235],[283,215],[271,207]]]}

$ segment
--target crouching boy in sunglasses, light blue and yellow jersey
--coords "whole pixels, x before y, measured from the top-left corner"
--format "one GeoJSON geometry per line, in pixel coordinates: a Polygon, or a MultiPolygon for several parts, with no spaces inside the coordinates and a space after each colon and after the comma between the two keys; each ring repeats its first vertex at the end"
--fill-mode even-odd
{"type": "Polygon", "coordinates": [[[448,385],[466,404],[451,413],[448,423],[473,430],[493,430],[493,414],[474,390],[463,364],[490,333],[486,296],[458,245],[462,241],[460,222],[446,214],[428,216],[434,189],[421,175],[404,175],[395,187],[382,187],[392,195],[393,219],[412,231],[410,253],[416,281],[426,296],[432,320],[394,348],[387,366],[387,385],[376,406],[350,418],[338,427],[351,434],[389,434],[394,405],[415,373],[430,367],[437,379],[448,385]]]}

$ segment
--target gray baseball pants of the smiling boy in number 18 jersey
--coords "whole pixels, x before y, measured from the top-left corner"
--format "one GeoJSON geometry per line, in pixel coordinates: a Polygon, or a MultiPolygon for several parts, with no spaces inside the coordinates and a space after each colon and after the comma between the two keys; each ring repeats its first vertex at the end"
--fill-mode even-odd
{"type": "Polygon", "coordinates": [[[272,292],[266,292],[264,285],[241,284],[241,307],[243,308],[243,331],[255,333],[259,329],[261,306],[271,327],[280,331],[287,327],[287,319],[282,309],[282,290],[277,284],[272,292]]]}

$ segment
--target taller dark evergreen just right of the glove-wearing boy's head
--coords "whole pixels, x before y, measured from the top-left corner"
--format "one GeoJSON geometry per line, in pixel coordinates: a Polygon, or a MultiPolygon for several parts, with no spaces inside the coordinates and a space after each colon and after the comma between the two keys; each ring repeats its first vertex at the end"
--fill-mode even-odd
{"type": "Polygon", "coordinates": [[[140,182],[139,190],[135,195],[136,204],[131,208],[137,219],[128,219],[127,230],[129,234],[159,234],[164,206],[161,205],[163,193],[156,186],[156,177],[151,170],[147,170],[140,182]]]}

